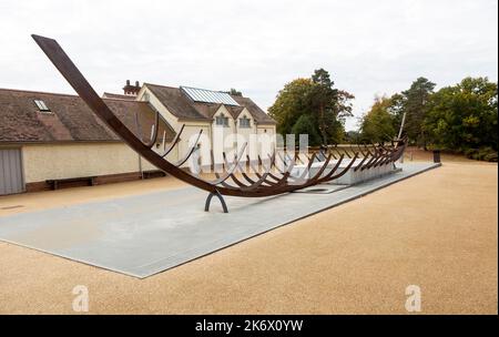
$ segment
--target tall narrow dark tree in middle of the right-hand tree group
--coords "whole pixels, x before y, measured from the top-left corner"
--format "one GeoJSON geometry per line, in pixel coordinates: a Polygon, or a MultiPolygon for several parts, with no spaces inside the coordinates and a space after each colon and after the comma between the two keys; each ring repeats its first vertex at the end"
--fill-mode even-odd
{"type": "Polygon", "coordinates": [[[410,88],[401,93],[404,111],[406,112],[405,131],[409,140],[426,149],[426,135],[422,127],[428,112],[428,101],[434,93],[435,83],[425,78],[418,78],[410,88]]]}

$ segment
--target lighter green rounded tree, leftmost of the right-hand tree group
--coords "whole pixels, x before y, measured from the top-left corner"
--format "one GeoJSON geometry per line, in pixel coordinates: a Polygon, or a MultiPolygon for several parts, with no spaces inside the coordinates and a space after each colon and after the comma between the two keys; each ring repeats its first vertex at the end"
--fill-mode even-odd
{"type": "Polygon", "coordinates": [[[364,142],[385,142],[396,136],[397,129],[394,121],[396,115],[390,113],[394,101],[389,98],[376,98],[360,122],[361,140],[364,142]]]}

